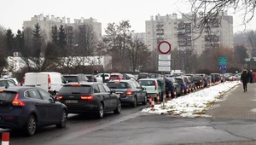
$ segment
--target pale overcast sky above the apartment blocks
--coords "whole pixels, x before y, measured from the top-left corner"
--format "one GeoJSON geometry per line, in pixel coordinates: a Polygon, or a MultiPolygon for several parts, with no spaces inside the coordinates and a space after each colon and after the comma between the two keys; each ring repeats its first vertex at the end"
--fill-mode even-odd
{"type": "MultiPolygon", "coordinates": [[[[92,17],[102,22],[102,28],[109,22],[130,20],[133,30],[145,32],[145,20],[150,20],[150,15],[187,13],[189,8],[187,0],[2,0],[0,25],[17,32],[22,28],[23,20],[31,20],[33,15],[43,13],[61,18],[66,16],[72,21],[92,17]]],[[[234,32],[243,31],[241,14],[234,15],[230,11],[229,14],[234,16],[234,32]]],[[[252,24],[256,24],[256,18],[247,25],[247,30],[255,29],[252,24]]]]}

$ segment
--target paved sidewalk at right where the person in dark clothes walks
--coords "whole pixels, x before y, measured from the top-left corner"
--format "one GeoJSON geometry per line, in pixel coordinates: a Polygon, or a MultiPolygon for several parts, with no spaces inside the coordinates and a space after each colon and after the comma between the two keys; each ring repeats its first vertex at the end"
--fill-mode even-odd
{"type": "Polygon", "coordinates": [[[247,84],[247,92],[243,92],[242,84],[239,84],[215,106],[206,112],[212,118],[256,119],[256,84],[247,84]]]}

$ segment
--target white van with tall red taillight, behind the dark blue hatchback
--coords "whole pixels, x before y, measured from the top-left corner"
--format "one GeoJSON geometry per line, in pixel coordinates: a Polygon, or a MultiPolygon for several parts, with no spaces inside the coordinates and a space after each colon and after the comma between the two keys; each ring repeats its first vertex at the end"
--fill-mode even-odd
{"type": "Polygon", "coordinates": [[[67,81],[61,73],[55,72],[41,72],[41,73],[25,73],[22,80],[23,86],[34,86],[48,91],[50,94],[55,95],[63,84],[67,81]]]}

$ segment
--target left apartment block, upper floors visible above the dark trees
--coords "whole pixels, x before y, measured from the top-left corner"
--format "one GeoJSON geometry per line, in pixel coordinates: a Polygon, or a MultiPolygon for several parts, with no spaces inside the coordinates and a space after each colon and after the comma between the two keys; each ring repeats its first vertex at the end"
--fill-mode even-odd
{"type": "Polygon", "coordinates": [[[23,29],[31,28],[34,29],[36,24],[39,24],[41,27],[41,33],[44,35],[44,38],[46,40],[51,40],[51,34],[53,31],[55,31],[54,27],[57,26],[57,29],[60,28],[60,26],[64,26],[67,32],[67,42],[71,43],[71,38],[68,38],[73,34],[73,32],[77,30],[84,29],[85,26],[92,26],[93,31],[95,32],[96,38],[101,39],[102,38],[102,23],[97,22],[97,20],[90,18],[90,19],[84,19],[83,17],[81,19],[74,19],[73,22],[70,20],[70,18],[64,17],[55,17],[55,15],[49,16],[44,14],[34,15],[31,20],[25,20],[23,21],[23,29]]]}

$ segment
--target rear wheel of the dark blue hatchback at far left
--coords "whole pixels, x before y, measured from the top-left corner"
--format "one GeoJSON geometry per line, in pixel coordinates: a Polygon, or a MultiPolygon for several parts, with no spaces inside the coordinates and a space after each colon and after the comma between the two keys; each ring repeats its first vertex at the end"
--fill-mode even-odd
{"type": "Polygon", "coordinates": [[[26,124],[26,135],[33,136],[37,131],[37,119],[34,115],[30,115],[26,124]]]}

